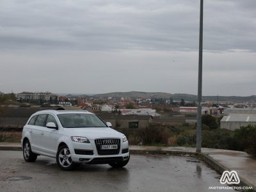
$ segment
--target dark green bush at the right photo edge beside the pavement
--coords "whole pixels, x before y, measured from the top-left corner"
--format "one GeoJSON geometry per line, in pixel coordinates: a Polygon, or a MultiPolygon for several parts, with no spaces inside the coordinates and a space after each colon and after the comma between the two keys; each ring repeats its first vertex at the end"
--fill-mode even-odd
{"type": "Polygon", "coordinates": [[[256,125],[248,125],[237,129],[234,138],[239,141],[241,147],[248,154],[256,156],[256,125]]]}

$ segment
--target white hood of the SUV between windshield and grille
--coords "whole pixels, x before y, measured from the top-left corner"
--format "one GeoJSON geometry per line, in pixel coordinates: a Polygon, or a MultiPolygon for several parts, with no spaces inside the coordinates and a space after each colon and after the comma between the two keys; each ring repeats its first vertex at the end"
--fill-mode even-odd
{"type": "Polygon", "coordinates": [[[124,134],[115,131],[109,127],[93,127],[93,128],[64,128],[69,136],[84,136],[88,140],[97,138],[122,138],[124,134]]]}

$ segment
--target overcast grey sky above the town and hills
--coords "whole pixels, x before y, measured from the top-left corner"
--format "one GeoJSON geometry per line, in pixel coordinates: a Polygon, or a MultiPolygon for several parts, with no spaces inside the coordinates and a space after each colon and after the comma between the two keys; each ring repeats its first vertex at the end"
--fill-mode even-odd
{"type": "MultiPolygon", "coordinates": [[[[0,92],[197,93],[200,0],[0,0],[0,92]]],[[[204,1],[203,95],[256,95],[256,1],[204,1]]]]}

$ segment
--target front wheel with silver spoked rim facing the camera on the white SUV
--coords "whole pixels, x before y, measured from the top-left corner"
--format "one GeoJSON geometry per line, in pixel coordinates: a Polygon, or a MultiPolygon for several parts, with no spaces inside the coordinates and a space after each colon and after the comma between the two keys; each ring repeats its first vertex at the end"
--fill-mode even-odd
{"type": "Polygon", "coordinates": [[[76,166],[76,163],[72,161],[70,150],[67,145],[58,148],[56,161],[61,170],[72,170],[76,166]]]}

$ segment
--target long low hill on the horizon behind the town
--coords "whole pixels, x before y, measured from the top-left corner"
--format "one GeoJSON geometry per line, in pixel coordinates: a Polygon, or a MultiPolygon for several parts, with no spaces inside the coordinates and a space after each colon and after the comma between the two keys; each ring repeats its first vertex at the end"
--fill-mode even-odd
{"type": "MultiPolygon", "coordinates": [[[[173,100],[188,100],[194,101],[196,100],[196,95],[190,95],[186,93],[163,93],[163,92],[113,92],[113,93],[103,93],[93,95],[93,97],[112,97],[120,99],[121,97],[129,97],[129,98],[166,98],[170,99],[172,97],[173,100]]],[[[217,96],[203,96],[202,100],[211,100],[216,101],[217,96]]],[[[256,95],[248,96],[248,97],[240,97],[240,96],[218,96],[218,100],[220,101],[232,101],[232,102],[252,102],[256,101],[256,95]]]]}

